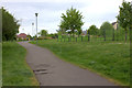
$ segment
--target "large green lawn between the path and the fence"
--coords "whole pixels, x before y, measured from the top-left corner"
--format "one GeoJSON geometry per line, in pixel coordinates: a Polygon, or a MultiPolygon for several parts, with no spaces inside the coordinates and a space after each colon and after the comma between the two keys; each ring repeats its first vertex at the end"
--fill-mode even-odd
{"type": "MultiPolygon", "coordinates": [[[[31,42],[35,44],[36,42],[31,42]]],[[[124,42],[57,42],[38,41],[42,47],[59,58],[90,69],[117,82],[130,85],[130,44],[124,42]]]]}

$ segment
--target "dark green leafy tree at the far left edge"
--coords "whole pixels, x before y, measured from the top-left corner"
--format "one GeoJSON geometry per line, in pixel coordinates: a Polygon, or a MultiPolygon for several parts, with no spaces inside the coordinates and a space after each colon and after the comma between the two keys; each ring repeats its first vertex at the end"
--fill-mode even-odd
{"type": "Polygon", "coordinates": [[[18,20],[9,13],[6,9],[1,8],[2,10],[2,40],[3,41],[11,41],[15,38],[15,34],[19,32],[18,20]]]}

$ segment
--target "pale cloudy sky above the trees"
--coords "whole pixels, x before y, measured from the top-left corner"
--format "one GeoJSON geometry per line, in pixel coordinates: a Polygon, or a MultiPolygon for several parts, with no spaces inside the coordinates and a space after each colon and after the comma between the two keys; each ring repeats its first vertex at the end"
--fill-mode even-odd
{"type": "Polygon", "coordinates": [[[0,6],[20,20],[19,33],[35,35],[35,13],[38,13],[38,32],[47,30],[48,33],[56,33],[62,13],[66,13],[66,10],[73,7],[84,15],[85,24],[81,29],[85,31],[92,24],[100,28],[106,21],[116,22],[121,3],[122,0],[1,0],[0,6]]]}

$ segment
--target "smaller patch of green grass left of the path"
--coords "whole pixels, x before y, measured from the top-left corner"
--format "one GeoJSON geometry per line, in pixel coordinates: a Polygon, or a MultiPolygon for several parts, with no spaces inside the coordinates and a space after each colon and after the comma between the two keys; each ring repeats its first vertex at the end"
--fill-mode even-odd
{"type": "Polygon", "coordinates": [[[26,50],[15,42],[2,43],[2,85],[37,86],[37,81],[25,62],[26,50]]]}

